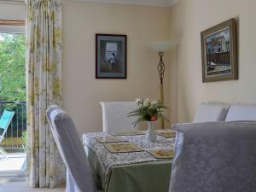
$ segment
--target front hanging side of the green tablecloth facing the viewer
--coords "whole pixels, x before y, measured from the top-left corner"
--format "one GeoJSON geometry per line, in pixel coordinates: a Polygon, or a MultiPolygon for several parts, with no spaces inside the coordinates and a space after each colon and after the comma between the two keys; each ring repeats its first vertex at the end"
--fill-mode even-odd
{"type": "Polygon", "coordinates": [[[168,192],[170,161],[114,166],[108,175],[105,192],[168,192]]]}

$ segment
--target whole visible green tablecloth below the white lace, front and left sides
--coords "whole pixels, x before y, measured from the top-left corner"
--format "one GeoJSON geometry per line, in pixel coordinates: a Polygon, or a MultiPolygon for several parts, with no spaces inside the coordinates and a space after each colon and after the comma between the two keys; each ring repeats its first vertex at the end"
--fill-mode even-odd
{"type": "Polygon", "coordinates": [[[171,160],[112,166],[107,177],[93,149],[84,146],[97,188],[102,192],[168,192],[171,160]]]}

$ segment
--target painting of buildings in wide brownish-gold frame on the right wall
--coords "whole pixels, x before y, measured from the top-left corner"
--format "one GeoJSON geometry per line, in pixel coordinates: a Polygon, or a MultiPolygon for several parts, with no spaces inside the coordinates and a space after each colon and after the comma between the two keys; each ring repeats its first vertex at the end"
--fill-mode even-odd
{"type": "Polygon", "coordinates": [[[238,79],[236,20],[201,32],[202,81],[238,79]]]}

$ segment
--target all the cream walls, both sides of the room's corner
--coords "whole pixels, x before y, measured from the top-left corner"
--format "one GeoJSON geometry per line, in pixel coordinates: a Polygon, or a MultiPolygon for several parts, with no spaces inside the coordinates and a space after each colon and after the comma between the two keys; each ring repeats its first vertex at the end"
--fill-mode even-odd
{"type": "MultiPolygon", "coordinates": [[[[180,0],[171,9],[64,1],[63,107],[82,133],[102,129],[101,101],[158,98],[158,57],[149,44],[168,39],[178,43],[164,57],[172,123],[191,121],[201,102],[256,103],[255,7],[254,0],[180,0]],[[233,17],[238,24],[239,80],[203,84],[200,32],[233,17]],[[127,34],[128,79],[95,79],[96,32],[127,34]]],[[[25,15],[24,4],[0,3],[2,20],[25,20],[25,15]]]]}

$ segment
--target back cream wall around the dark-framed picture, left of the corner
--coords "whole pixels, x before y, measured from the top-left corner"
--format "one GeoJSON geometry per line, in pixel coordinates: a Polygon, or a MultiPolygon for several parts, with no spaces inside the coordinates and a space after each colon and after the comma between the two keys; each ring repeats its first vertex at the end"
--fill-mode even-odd
{"type": "MultiPolygon", "coordinates": [[[[159,98],[158,53],[149,44],[169,40],[170,8],[65,1],[62,32],[63,107],[80,134],[102,131],[99,102],[159,98]],[[96,33],[127,35],[127,79],[95,79],[96,33]]],[[[170,53],[164,59],[166,105],[170,106],[170,53]]]]}

